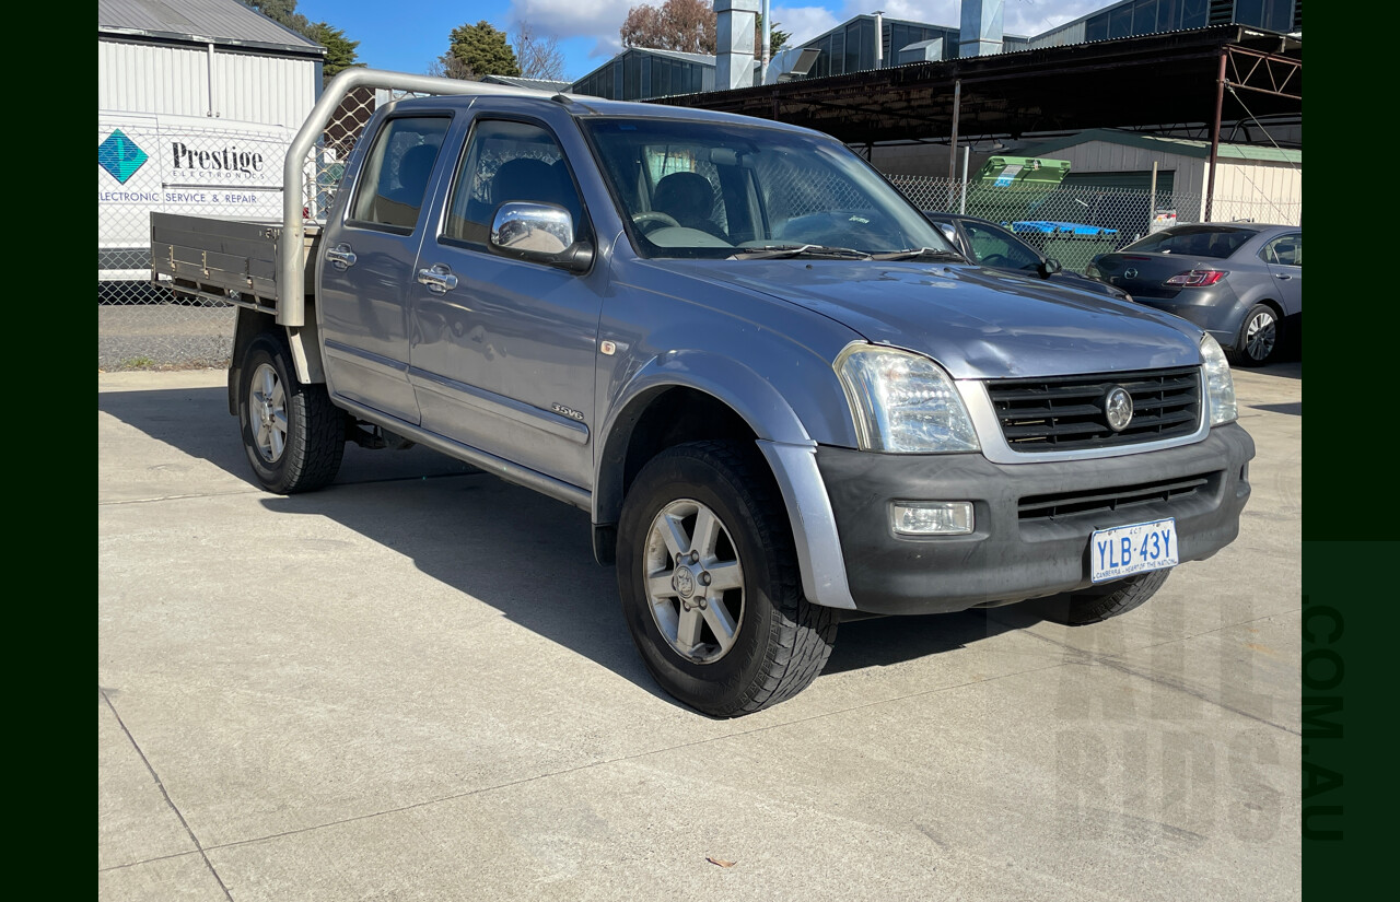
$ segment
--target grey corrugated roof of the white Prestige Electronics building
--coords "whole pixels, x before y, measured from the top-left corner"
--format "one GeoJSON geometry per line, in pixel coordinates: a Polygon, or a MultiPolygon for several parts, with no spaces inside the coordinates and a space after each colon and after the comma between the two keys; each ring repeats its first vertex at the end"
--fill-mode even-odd
{"type": "Polygon", "coordinates": [[[216,43],[297,56],[326,49],[238,0],[98,0],[97,34],[216,43]]]}

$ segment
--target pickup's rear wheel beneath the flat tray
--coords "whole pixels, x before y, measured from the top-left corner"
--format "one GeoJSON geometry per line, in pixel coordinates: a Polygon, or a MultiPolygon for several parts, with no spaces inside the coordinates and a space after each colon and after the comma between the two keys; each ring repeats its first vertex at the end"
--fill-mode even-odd
{"type": "Polygon", "coordinates": [[[291,495],[336,477],[344,453],[344,411],[323,385],[301,385],[287,345],[272,334],[253,338],[244,355],[238,421],[258,482],[291,495]]]}

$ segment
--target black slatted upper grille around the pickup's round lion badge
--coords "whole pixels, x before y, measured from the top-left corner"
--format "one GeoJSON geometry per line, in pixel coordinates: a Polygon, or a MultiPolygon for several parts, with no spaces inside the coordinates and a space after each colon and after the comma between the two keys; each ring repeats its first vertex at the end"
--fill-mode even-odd
{"type": "Polygon", "coordinates": [[[987,383],[1001,434],[1014,452],[1117,448],[1187,436],[1201,420],[1196,366],[1092,376],[998,379],[987,383]],[[1113,386],[1133,396],[1133,420],[1109,428],[1103,401],[1113,386]]]}

